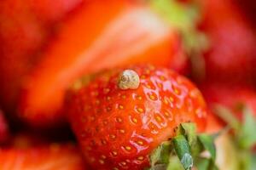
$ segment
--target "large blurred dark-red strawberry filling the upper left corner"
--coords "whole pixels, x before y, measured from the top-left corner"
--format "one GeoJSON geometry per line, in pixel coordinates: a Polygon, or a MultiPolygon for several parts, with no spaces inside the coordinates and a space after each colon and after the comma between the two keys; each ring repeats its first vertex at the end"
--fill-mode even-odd
{"type": "Polygon", "coordinates": [[[52,24],[81,0],[3,0],[0,3],[0,103],[14,111],[20,84],[38,60],[52,24]]]}

